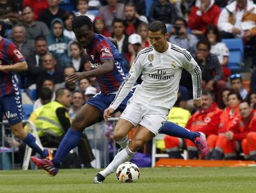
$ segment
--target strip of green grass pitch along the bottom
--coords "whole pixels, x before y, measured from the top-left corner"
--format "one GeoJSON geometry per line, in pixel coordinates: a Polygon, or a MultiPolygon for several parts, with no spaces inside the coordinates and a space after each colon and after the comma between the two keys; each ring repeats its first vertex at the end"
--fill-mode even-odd
{"type": "Polygon", "coordinates": [[[111,174],[93,184],[99,170],[60,170],[55,177],[43,170],[0,171],[0,192],[255,192],[256,167],[140,168],[136,183],[119,183],[111,174]]]}

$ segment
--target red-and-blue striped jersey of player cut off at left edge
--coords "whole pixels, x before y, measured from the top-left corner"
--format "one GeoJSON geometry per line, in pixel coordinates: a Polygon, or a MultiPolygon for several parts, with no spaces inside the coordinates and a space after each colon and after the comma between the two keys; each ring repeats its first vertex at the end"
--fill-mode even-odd
{"type": "MultiPolygon", "coordinates": [[[[17,45],[2,37],[0,40],[0,65],[12,65],[21,61],[25,61],[25,57],[19,51],[17,45]]],[[[14,94],[17,90],[14,75],[14,72],[0,71],[0,97],[14,94]]]]}

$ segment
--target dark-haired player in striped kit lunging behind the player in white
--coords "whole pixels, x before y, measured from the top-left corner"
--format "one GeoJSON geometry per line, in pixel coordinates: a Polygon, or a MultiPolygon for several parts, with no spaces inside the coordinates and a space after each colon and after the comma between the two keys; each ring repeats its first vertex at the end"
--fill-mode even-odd
{"type": "MultiPolygon", "coordinates": [[[[84,128],[103,120],[104,110],[106,110],[115,99],[120,85],[126,80],[128,74],[116,47],[108,38],[97,34],[95,26],[93,26],[93,21],[91,21],[89,17],[74,17],[72,28],[77,41],[80,42],[89,55],[92,70],[76,72],[67,77],[66,80],[77,81],[84,79],[84,77],[97,77],[101,92],[93,96],[89,101],[86,101],[86,104],[82,107],[80,112],[78,112],[77,116],[75,116],[71,128],[64,136],[52,161],[48,159],[37,159],[35,156],[31,158],[38,167],[46,170],[51,176],[57,174],[68,152],[75,148],[84,128]]],[[[187,57],[191,57],[190,54],[187,54],[187,57]]],[[[158,77],[155,78],[157,79],[158,77]]],[[[167,77],[163,76],[163,79],[165,78],[167,77]]],[[[168,77],[168,79],[171,78],[172,76],[168,77]]],[[[200,76],[198,77],[198,81],[201,81],[200,76]]],[[[198,91],[200,95],[201,89],[199,88],[198,91]]],[[[129,90],[127,96],[118,104],[119,106],[116,108],[117,111],[122,112],[125,110],[132,94],[133,91],[129,90]]],[[[175,97],[173,99],[175,99],[175,97]]],[[[198,144],[196,146],[199,147],[201,153],[203,152],[204,155],[208,154],[208,145],[202,134],[189,132],[185,130],[185,128],[181,128],[170,122],[165,123],[162,130],[164,134],[172,134],[172,136],[191,139],[194,143],[198,144]]],[[[116,140],[116,143],[118,143],[121,148],[125,148],[128,140],[128,136],[125,135],[121,139],[116,140]]]]}

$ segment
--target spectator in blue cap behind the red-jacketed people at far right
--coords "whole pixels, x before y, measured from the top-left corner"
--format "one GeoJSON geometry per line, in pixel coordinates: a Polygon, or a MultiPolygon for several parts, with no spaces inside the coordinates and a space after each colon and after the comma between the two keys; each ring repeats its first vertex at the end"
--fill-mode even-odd
{"type": "Polygon", "coordinates": [[[241,78],[241,74],[232,74],[230,76],[230,86],[231,90],[239,92],[243,100],[247,99],[248,92],[243,86],[243,79],[241,78]]]}

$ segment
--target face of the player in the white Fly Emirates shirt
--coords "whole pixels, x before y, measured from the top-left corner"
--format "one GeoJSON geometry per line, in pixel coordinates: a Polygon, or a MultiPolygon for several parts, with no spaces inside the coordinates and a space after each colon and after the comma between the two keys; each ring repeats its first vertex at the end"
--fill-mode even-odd
{"type": "Polygon", "coordinates": [[[165,45],[167,43],[168,34],[162,34],[161,30],[158,32],[149,31],[149,41],[157,52],[165,52],[165,45]]]}

